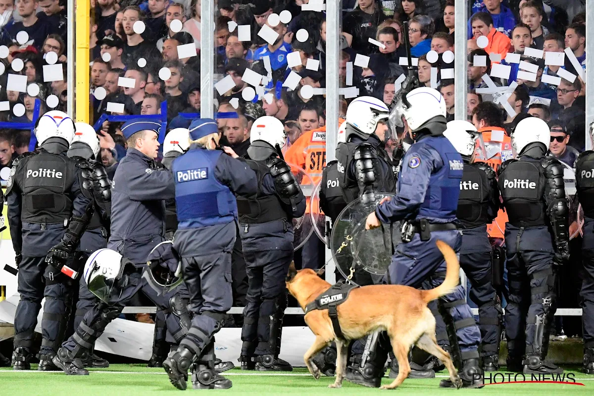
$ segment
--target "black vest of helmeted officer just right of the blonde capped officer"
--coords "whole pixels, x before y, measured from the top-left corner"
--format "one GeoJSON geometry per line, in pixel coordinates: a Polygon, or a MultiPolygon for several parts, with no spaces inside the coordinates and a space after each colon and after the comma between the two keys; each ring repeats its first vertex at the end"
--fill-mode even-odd
{"type": "Polygon", "coordinates": [[[258,192],[254,198],[237,198],[239,222],[243,224],[268,223],[268,221],[286,219],[287,212],[276,195],[266,195],[262,192],[264,177],[270,175],[270,169],[264,161],[246,161],[254,170],[258,179],[258,192]]]}

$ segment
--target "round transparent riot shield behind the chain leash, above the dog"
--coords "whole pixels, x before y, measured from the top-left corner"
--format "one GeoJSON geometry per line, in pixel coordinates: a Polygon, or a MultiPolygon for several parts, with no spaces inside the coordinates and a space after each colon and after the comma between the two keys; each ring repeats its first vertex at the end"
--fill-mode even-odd
{"type": "Polygon", "coordinates": [[[401,241],[400,225],[397,223],[365,230],[367,216],[384,197],[394,195],[376,192],[355,199],[339,214],[333,225],[330,250],[336,268],[359,286],[381,281],[390,265],[394,248],[401,241]]]}

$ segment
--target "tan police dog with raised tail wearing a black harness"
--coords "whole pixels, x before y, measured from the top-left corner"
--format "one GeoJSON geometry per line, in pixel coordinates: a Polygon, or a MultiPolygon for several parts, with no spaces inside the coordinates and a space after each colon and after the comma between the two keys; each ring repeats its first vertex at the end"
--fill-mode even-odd
{"type": "MultiPolygon", "coordinates": [[[[451,293],[459,283],[460,264],[456,252],[441,240],[437,241],[437,247],[444,255],[447,272],[445,281],[435,289],[373,285],[358,287],[350,292],[349,298],[337,306],[340,328],[346,340],[336,337],[327,309],[314,309],[305,315],[305,322],[315,334],[315,341],[305,353],[304,360],[315,379],[320,378],[320,370],[312,358],[332,341],[336,342],[337,350],[336,381],[328,387],[340,388],[345,377],[348,341],[375,331],[387,331],[400,369],[396,379],[381,389],[394,389],[409,375],[408,353],[413,344],[444,362],[453,384],[457,388],[462,387],[462,380],[450,354],[441,349],[435,340],[435,318],[427,307],[429,301],[451,293]]],[[[297,271],[294,263],[289,267],[286,285],[302,309],[331,287],[314,270],[307,268],[297,271]]]]}

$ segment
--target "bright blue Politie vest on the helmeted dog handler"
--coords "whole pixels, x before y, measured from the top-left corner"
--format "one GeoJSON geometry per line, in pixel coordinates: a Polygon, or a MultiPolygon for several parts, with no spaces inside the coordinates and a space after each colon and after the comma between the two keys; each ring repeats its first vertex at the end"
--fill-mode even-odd
{"type": "MultiPolygon", "coordinates": [[[[423,138],[421,142],[437,151],[444,166],[432,170],[425,200],[419,208],[418,216],[454,218],[460,197],[460,180],[462,180],[464,171],[462,157],[445,137],[429,136],[423,138]]],[[[409,152],[412,153],[413,151],[410,150],[412,148],[409,149],[409,152]]],[[[399,191],[401,191],[400,188],[399,191]]]]}

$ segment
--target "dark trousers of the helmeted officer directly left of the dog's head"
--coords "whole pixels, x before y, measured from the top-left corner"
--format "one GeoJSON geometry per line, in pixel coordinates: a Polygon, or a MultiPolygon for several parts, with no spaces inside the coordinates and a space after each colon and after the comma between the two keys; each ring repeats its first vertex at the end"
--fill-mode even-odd
{"type": "Polygon", "coordinates": [[[258,341],[256,355],[278,354],[287,306],[285,278],[293,259],[293,227],[287,220],[275,220],[239,224],[239,232],[249,285],[241,339],[258,341]]]}

